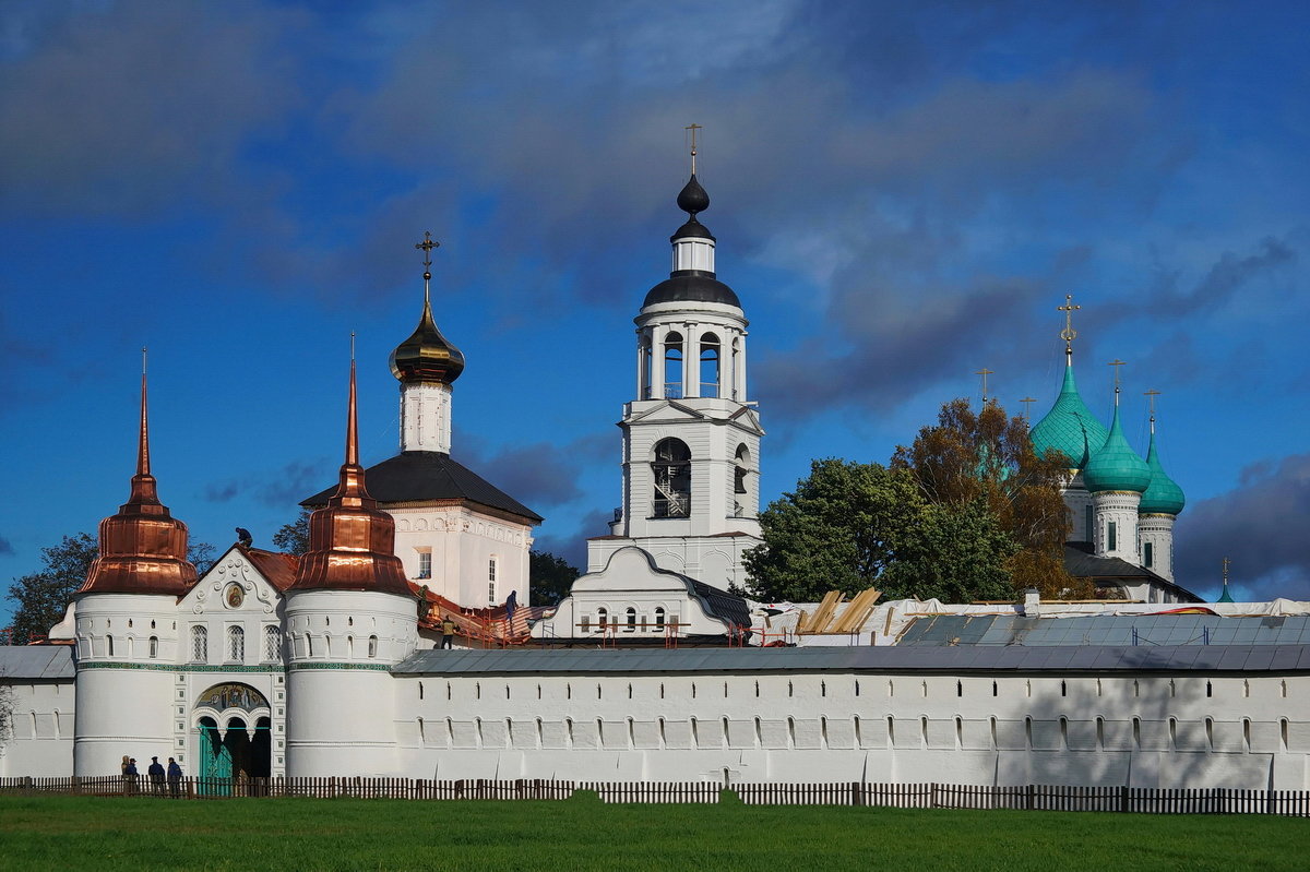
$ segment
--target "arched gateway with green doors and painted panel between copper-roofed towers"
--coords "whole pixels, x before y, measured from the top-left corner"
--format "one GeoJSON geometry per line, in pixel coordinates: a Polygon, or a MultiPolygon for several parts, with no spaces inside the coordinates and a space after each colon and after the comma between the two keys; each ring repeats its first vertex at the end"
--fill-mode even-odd
{"type": "Polygon", "coordinates": [[[272,720],[263,694],[250,685],[215,685],[200,694],[191,716],[200,778],[269,778],[272,720]]]}

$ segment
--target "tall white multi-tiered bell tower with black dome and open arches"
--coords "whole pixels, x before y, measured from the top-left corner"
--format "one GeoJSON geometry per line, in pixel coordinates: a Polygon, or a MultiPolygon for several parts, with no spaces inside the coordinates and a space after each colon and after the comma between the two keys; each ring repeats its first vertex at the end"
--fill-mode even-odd
{"type": "Polygon", "coordinates": [[[622,507],[610,534],[588,541],[587,567],[601,571],[635,545],[660,568],[726,589],[745,583],[741,554],[760,542],[764,429],[747,393],[745,313],[719,282],[717,240],[698,219],[710,198],[694,140],[677,206],[688,219],[669,238],[672,271],[634,319],[637,397],[618,422],[622,507]]]}

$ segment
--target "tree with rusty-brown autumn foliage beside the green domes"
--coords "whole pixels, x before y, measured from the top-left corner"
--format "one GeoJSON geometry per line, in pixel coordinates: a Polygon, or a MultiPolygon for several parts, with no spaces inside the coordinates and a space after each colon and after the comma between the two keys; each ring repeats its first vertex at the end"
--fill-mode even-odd
{"type": "Polygon", "coordinates": [[[1044,597],[1095,594],[1089,581],[1064,568],[1069,512],[1060,486],[1066,461],[1055,453],[1039,457],[1027,422],[1007,416],[994,399],[977,412],[968,399],[943,405],[935,426],[920,429],[913,445],[896,449],[892,466],[912,473],[934,505],[959,509],[980,500],[986,505],[1018,545],[1006,563],[1011,588],[1038,588],[1044,597]]]}

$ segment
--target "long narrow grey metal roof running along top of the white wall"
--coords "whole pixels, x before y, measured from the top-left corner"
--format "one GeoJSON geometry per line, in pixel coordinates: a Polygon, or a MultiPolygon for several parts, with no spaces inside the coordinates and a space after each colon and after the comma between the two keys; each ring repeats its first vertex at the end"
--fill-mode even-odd
{"type": "Polygon", "coordinates": [[[1310,672],[1302,645],[861,645],[852,648],[696,648],[419,651],[396,674],[677,674],[727,672],[1310,672]]]}

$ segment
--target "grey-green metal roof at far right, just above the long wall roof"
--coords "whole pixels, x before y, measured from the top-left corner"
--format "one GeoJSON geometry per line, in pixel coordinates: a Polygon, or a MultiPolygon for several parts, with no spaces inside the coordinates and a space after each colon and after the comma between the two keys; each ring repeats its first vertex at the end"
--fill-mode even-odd
{"type": "Polygon", "coordinates": [[[1305,645],[1310,615],[1140,614],[1086,618],[933,615],[900,645],[1305,645]],[[1136,639],[1133,630],[1137,631],[1136,639]]]}

